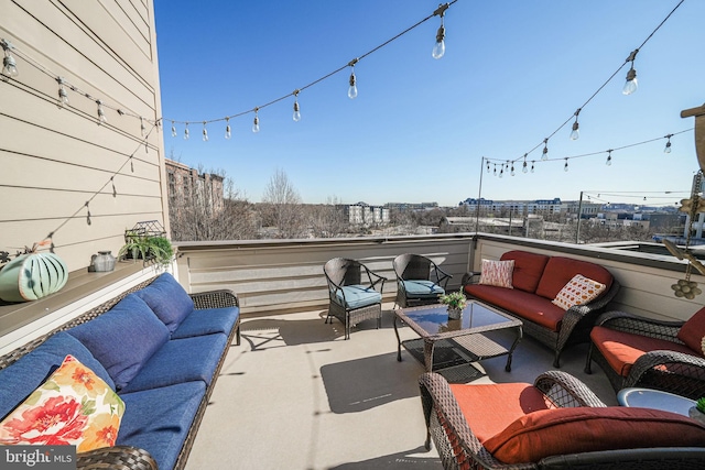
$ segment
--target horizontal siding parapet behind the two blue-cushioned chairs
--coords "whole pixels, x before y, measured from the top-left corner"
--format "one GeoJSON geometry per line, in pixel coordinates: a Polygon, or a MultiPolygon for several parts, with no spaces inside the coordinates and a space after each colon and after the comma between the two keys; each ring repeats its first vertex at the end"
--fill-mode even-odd
{"type": "Polygon", "coordinates": [[[178,243],[178,278],[192,293],[228,288],[243,314],[325,308],[323,265],[333,258],[356,259],[386,276],[384,300],[397,294],[392,260],[402,253],[431,258],[453,275],[458,288],[468,269],[469,237],[341,239],[241,243],[178,243]]]}

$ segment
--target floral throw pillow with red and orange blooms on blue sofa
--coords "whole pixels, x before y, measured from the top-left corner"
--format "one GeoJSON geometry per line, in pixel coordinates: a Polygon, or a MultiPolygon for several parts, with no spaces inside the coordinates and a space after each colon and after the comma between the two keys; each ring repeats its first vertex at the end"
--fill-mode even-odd
{"type": "Polygon", "coordinates": [[[0,445],[115,446],[124,403],[73,356],[0,422],[0,445]]]}

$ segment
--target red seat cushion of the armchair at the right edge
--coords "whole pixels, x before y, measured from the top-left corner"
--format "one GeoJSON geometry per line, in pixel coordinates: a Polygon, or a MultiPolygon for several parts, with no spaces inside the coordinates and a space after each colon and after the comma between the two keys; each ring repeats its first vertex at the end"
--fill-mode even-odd
{"type": "Polygon", "coordinates": [[[673,341],[617,331],[600,326],[593,328],[590,339],[603,353],[609,367],[621,376],[629,375],[637,359],[649,351],[665,350],[693,354],[690,348],[673,341]]]}

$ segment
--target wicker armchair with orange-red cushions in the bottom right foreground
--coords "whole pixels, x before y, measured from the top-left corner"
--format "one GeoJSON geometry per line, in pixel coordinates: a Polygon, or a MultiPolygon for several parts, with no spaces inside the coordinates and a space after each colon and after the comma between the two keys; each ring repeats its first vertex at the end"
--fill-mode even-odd
{"type": "MultiPolygon", "coordinates": [[[[606,407],[605,404],[579,380],[560,371],[550,371],[541,374],[534,382],[533,386],[529,384],[456,384],[448,385],[446,380],[436,373],[424,373],[419,379],[421,387],[421,401],[423,413],[426,420],[426,449],[431,449],[431,440],[436,446],[438,456],[441,457],[445,469],[663,469],[663,468],[702,468],[705,464],[705,448],[693,447],[698,446],[702,433],[705,428],[698,426],[692,419],[686,417],[677,417],[680,425],[685,430],[693,430],[697,436],[685,436],[684,440],[690,444],[687,447],[674,447],[670,445],[655,445],[652,448],[622,448],[617,450],[583,450],[573,453],[552,453],[546,457],[538,458],[536,461],[506,463],[498,460],[487,447],[496,437],[480,437],[478,434],[487,433],[488,423],[491,427],[505,429],[505,426],[511,428],[513,423],[505,423],[507,417],[507,407],[527,407],[531,401],[536,403],[539,398],[539,408],[535,409],[536,415],[543,413],[543,416],[550,416],[553,412],[563,415],[563,412],[586,413],[588,415],[606,414],[626,414],[626,420],[630,420],[630,415],[643,415],[643,408],[622,408],[606,407]],[[486,392],[477,392],[485,387],[486,392]],[[512,395],[513,393],[513,395],[512,395]],[[499,395],[499,397],[497,397],[499,395]],[[531,400],[528,396],[533,396],[531,400]],[[541,404],[541,401],[545,404],[541,404]],[[462,405],[464,403],[465,405],[462,405]],[[468,405],[469,404],[469,405],[468,405]],[[467,406],[477,409],[477,413],[469,413],[475,420],[468,422],[467,406]],[[588,407],[585,412],[576,409],[577,407],[588,407]],[[561,409],[558,409],[561,408],[561,409]],[[566,409],[571,408],[571,409],[566,409]],[[596,409],[599,408],[599,409],[596,409]],[[595,409],[595,412],[592,412],[595,409]],[[601,412],[607,413],[601,413],[601,412]],[[482,419],[484,418],[484,419],[482,419]],[[484,423],[482,423],[484,420],[484,423]]],[[[646,411],[651,413],[651,411],[646,411]]],[[[662,413],[662,412],[653,412],[662,413]]],[[[532,416],[532,412],[528,412],[525,416],[532,416]]],[[[668,414],[671,416],[672,414],[668,414]]],[[[534,415],[535,416],[535,415],[534,415]]],[[[642,423],[641,418],[634,419],[638,426],[642,423]]],[[[557,423],[557,420],[556,420],[557,423]]],[[[604,423],[603,423],[604,426],[604,423]]],[[[643,426],[649,426],[648,423],[643,426]]],[[[578,429],[585,429],[589,426],[578,423],[578,429]]],[[[609,428],[609,427],[608,427],[609,428]]],[[[593,429],[604,429],[597,426],[593,429]]],[[[501,430],[500,434],[505,434],[501,430]]],[[[524,435],[531,434],[527,431],[524,435]]],[[[538,430],[542,433],[542,430],[538,430]]],[[[549,429],[553,433],[553,429],[549,429]]],[[[589,433],[578,430],[577,435],[582,435],[582,439],[576,439],[578,446],[584,449],[599,448],[598,446],[612,446],[611,441],[620,439],[622,436],[600,436],[599,439],[590,437],[589,433]],[[599,440],[600,444],[595,444],[599,440]],[[605,441],[607,444],[605,445],[605,441]]],[[[599,433],[599,430],[597,430],[599,433]]],[[[619,431],[617,431],[619,433],[619,431]]],[[[648,433],[648,431],[647,431],[648,433]]],[[[521,434],[521,431],[517,433],[521,434]]],[[[632,433],[633,434],[633,433],[632,433]]],[[[683,433],[684,435],[688,433],[683,433]]],[[[549,439],[567,440],[570,447],[575,447],[571,438],[565,439],[570,433],[561,434],[555,431],[549,439]]],[[[543,435],[545,437],[545,434],[543,435]]],[[[641,436],[626,436],[627,439],[639,441],[641,436]]],[[[525,436],[523,437],[525,438],[525,436]]],[[[661,437],[651,433],[651,439],[658,442],[661,437]]],[[[533,452],[535,448],[544,446],[545,441],[539,436],[529,437],[529,445],[523,446],[530,448],[533,452]],[[533,440],[532,440],[533,439],[533,440]]],[[[676,437],[676,440],[679,438],[676,437]]],[[[639,447],[640,444],[633,447],[639,447]]],[[[648,446],[648,444],[646,445],[648,446]]],[[[702,445],[701,445],[702,446],[702,445]]],[[[539,451],[541,452],[541,450],[539,451]]]]}

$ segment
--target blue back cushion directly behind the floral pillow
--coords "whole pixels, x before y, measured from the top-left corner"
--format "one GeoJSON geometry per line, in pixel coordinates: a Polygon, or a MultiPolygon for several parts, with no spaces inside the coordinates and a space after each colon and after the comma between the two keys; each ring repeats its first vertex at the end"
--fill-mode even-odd
{"type": "Polygon", "coordinates": [[[0,370],[0,418],[8,415],[44,383],[64,362],[67,354],[78,359],[80,363],[115,389],[112,379],[90,351],[73,336],[61,331],[52,335],[50,339],[24,354],[12,365],[0,370]]]}

